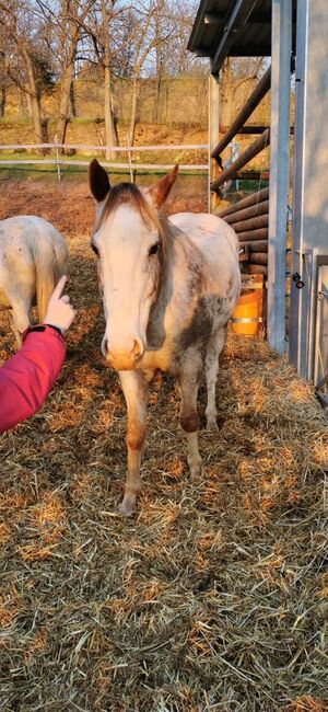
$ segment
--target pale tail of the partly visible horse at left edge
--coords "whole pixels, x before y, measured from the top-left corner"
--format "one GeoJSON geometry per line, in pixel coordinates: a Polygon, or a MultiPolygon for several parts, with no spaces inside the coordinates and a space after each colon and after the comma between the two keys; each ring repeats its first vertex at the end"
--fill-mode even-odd
{"type": "Polygon", "coordinates": [[[67,246],[61,234],[57,230],[55,231],[55,228],[52,230],[47,233],[43,232],[43,234],[38,233],[33,245],[36,307],[39,322],[44,321],[56,284],[66,272],[67,246]]]}

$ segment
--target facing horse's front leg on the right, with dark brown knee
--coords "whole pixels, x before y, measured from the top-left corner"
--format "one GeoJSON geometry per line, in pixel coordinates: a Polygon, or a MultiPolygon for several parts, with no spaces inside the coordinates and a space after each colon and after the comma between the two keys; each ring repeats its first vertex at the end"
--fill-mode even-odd
{"type": "Polygon", "coordinates": [[[197,394],[201,372],[201,354],[196,348],[188,348],[179,371],[180,426],[187,438],[187,460],[192,476],[199,474],[201,470],[201,457],[198,450],[199,418],[197,413],[197,394]]]}

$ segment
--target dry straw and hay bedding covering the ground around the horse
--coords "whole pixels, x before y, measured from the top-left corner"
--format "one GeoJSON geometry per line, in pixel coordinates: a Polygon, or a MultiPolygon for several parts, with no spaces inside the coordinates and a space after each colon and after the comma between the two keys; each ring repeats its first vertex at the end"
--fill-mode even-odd
{"type": "MultiPolygon", "coordinates": [[[[125,406],[99,356],[93,257],[66,219],[68,360],[43,411],[0,441],[0,709],[323,712],[328,443],[312,388],[231,336],[220,434],[201,432],[191,481],[177,393],[157,377],[124,519],[125,406]]],[[[2,361],[3,315],[0,333],[2,361]]]]}

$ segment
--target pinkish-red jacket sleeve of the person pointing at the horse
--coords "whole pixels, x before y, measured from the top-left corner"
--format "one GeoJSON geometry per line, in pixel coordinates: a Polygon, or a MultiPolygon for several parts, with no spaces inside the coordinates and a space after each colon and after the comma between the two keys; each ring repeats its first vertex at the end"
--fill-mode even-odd
{"type": "Polygon", "coordinates": [[[0,433],[25,421],[43,405],[66,354],[51,326],[25,332],[22,348],[0,368],[0,433]]]}

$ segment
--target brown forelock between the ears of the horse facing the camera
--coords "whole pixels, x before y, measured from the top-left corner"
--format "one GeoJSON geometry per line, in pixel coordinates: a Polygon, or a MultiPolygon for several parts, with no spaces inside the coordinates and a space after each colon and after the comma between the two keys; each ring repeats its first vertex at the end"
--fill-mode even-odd
{"type": "Polygon", "coordinates": [[[167,229],[167,221],[162,220],[162,216],[157,215],[150,200],[147,199],[145,195],[137,185],[134,185],[134,183],[117,183],[110,187],[96,230],[102,227],[105,220],[120,205],[130,205],[132,209],[139,213],[148,226],[155,226],[165,254],[171,238],[169,230],[167,229]]]}

